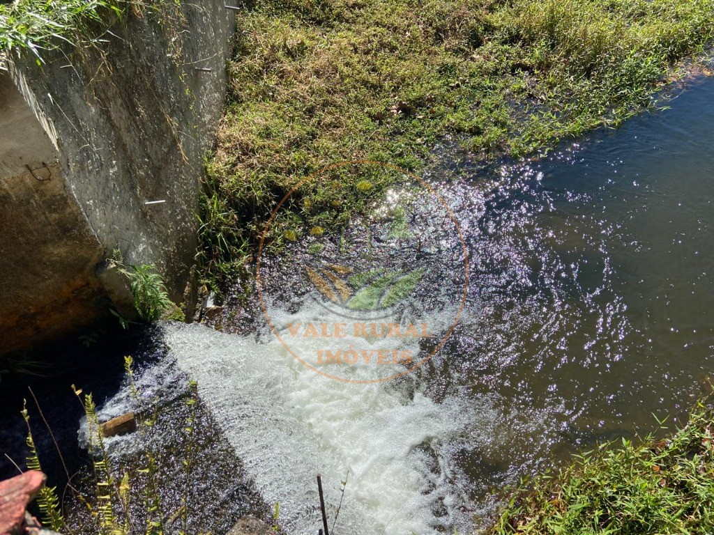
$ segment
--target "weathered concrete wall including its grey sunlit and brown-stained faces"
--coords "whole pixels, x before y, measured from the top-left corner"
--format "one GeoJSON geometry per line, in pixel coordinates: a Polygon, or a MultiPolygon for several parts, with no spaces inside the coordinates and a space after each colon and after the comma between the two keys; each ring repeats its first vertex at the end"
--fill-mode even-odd
{"type": "Polygon", "coordinates": [[[115,248],[183,300],[232,32],[222,0],[186,3],[0,70],[0,354],[89,325],[110,300],[130,314],[104,270],[115,248]]]}

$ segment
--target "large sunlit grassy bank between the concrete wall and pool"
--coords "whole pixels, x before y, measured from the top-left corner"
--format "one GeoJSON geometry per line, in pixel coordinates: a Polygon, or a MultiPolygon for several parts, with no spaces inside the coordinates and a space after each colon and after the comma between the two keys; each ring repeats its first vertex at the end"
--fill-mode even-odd
{"type": "MultiPolygon", "coordinates": [[[[365,158],[418,170],[447,134],[479,158],[522,156],[617,126],[714,28],[712,0],[266,0],[236,13],[202,227],[218,281],[318,168],[365,158]]],[[[388,182],[372,177],[366,192],[364,177],[338,179],[338,200],[306,187],[296,212],[338,218],[388,182]]]]}

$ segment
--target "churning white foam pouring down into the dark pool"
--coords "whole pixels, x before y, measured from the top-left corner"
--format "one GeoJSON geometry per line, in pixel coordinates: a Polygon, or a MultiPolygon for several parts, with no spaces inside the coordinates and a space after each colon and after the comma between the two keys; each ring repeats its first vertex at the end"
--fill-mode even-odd
{"type": "MultiPolygon", "coordinates": [[[[349,472],[340,534],[435,533],[440,501],[447,509],[441,520],[451,521],[454,498],[440,449],[463,422],[459,411],[423,395],[413,375],[401,387],[341,382],[301,365],[277,341],[201,325],[171,323],[164,331],[261,494],[279,502],[289,533],[314,534],[321,526],[318,472],[331,518],[349,472]]],[[[316,341],[302,343],[308,347],[298,349],[311,350],[316,341]]]]}

